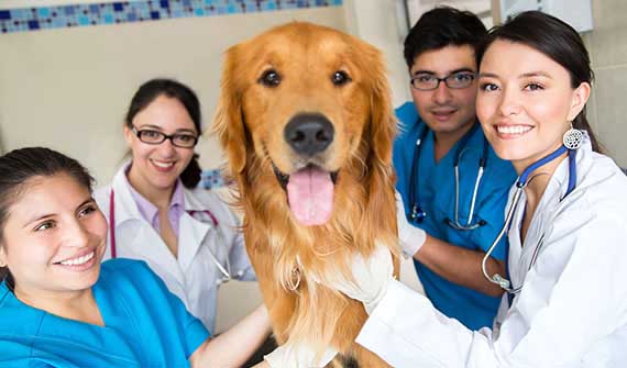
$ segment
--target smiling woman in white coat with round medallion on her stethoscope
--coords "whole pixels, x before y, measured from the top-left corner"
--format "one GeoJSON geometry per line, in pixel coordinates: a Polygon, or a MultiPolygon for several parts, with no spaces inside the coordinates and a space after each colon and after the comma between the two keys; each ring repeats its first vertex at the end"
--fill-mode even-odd
{"type": "Polygon", "coordinates": [[[509,238],[508,275],[486,272],[507,291],[494,327],[444,317],[393,280],[384,249],[354,259],[356,282],[321,282],[365,303],[358,343],[395,367],[624,367],[627,178],[585,120],[583,42],[562,21],[525,12],[494,29],[477,56],[477,116],[519,175],[494,239],[509,238]]]}

